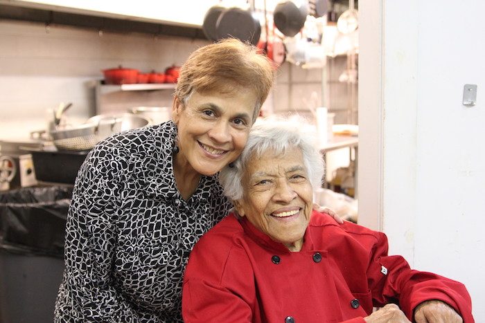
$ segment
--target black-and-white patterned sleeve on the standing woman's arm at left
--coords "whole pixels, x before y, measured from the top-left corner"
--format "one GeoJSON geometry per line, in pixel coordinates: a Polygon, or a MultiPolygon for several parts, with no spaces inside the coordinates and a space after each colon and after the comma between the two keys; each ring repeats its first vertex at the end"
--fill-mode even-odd
{"type": "Polygon", "coordinates": [[[123,160],[94,149],[80,168],[69,208],[57,322],[139,322],[112,278],[123,160]]]}

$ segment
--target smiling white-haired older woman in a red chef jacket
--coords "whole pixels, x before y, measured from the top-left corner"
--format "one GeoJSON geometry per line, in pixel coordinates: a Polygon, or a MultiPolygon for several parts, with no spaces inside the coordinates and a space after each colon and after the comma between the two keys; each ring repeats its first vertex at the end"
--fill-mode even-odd
{"type": "Polygon", "coordinates": [[[305,128],[256,124],[220,172],[235,210],[191,252],[185,322],[474,322],[463,284],[387,255],[381,232],[312,210],[324,163],[305,128]]]}

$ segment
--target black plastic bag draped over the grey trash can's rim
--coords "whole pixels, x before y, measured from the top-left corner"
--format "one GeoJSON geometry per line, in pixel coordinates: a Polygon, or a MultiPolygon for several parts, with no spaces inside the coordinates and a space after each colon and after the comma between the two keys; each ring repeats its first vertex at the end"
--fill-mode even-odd
{"type": "Polygon", "coordinates": [[[62,258],[72,191],[26,187],[0,194],[0,250],[62,258]]]}

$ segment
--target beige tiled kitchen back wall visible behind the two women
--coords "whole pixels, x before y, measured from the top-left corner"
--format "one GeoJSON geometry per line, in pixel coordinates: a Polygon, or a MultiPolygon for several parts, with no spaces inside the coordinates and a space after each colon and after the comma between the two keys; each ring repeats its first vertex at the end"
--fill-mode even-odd
{"type": "MultiPolygon", "coordinates": [[[[44,129],[51,118],[48,109],[60,102],[72,102],[66,111],[71,122],[84,122],[96,114],[95,85],[102,70],[122,65],[141,71],[164,71],[181,65],[206,39],[112,33],[70,26],[0,20],[0,138],[28,138],[30,131],[44,129]]],[[[335,113],[335,123],[347,123],[349,109],[356,119],[357,86],[339,82],[346,69],[345,56],[328,59],[328,82],[322,85],[324,68],[303,69],[285,62],[278,69],[276,84],[263,110],[303,111],[308,104],[323,106],[335,113]],[[324,91],[328,93],[324,94],[324,91]],[[316,102],[310,102],[312,93],[316,102]],[[326,96],[325,96],[326,95],[326,96]]],[[[172,91],[130,93],[133,107],[141,101],[171,107],[172,91]],[[160,93],[161,92],[161,93],[160,93]],[[140,96],[143,95],[143,98],[140,96]]],[[[130,97],[125,98],[130,100],[130,97]]]]}

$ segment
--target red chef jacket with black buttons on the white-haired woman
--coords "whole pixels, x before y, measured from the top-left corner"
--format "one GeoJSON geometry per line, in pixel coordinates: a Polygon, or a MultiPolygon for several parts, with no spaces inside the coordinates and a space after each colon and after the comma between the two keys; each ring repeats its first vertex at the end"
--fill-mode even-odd
{"type": "Polygon", "coordinates": [[[231,214],[195,245],[184,275],[185,322],[364,322],[396,303],[412,320],[429,299],[474,322],[465,286],[387,255],[387,237],[313,212],[301,251],[290,252],[231,214]]]}

